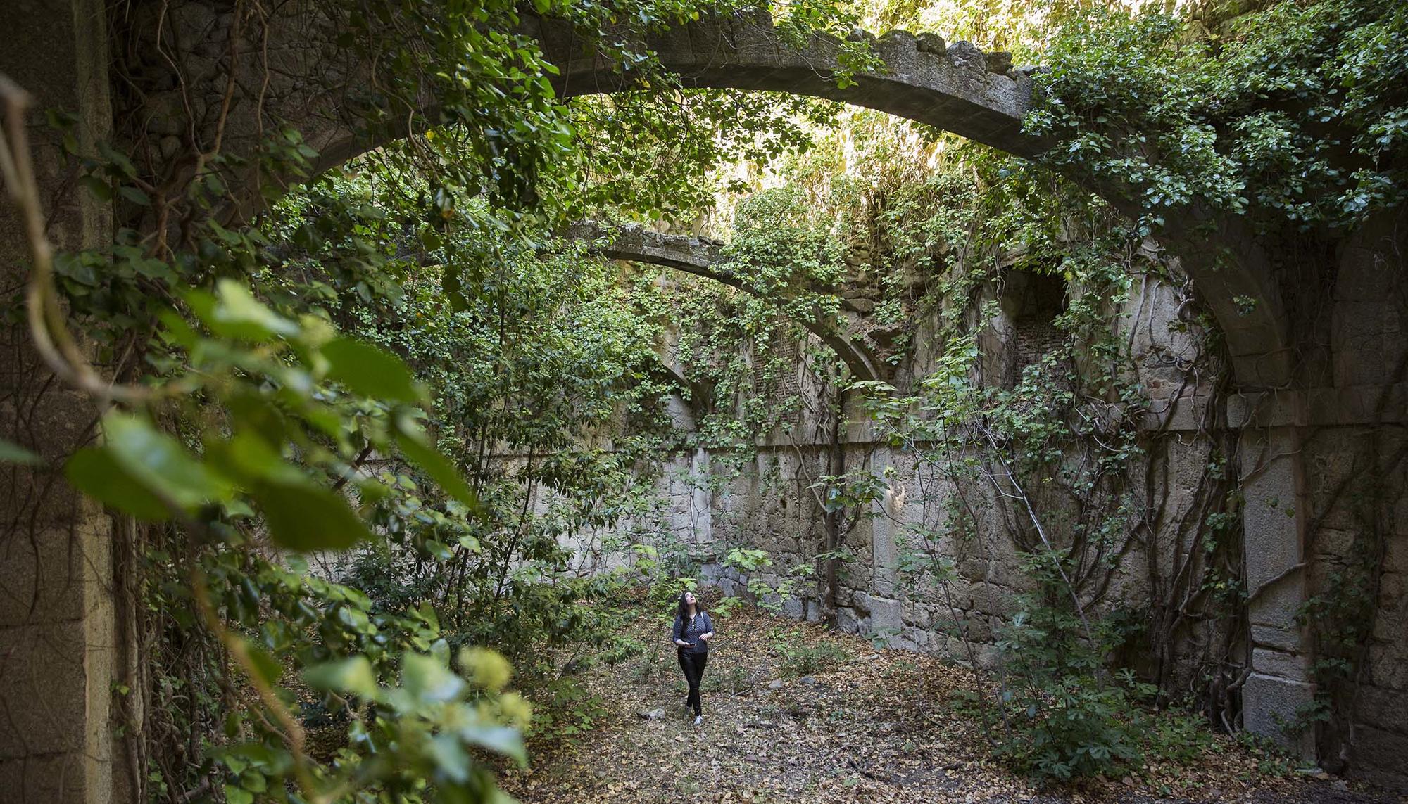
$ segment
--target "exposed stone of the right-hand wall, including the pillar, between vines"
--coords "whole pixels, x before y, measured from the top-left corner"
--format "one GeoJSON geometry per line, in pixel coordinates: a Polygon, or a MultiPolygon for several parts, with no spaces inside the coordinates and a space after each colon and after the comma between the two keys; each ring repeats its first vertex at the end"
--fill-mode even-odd
{"type": "MultiPolygon", "coordinates": [[[[1366,320],[1346,319],[1342,330],[1353,333],[1374,328],[1397,336],[1393,304],[1402,294],[1384,287],[1391,271],[1371,273],[1378,287],[1345,288],[1345,304],[1359,305],[1366,320]],[[1370,304],[1369,298],[1376,301],[1370,304]],[[1387,301],[1385,301],[1387,299],[1387,301]]],[[[1001,302],[1001,315],[983,332],[980,374],[990,384],[1011,385],[1022,367],[1042,357],[1043,344],[1055,337],[1049,318],[1062,299],[1050,298],[1050,287],[1033,290],[1022,280],[990,288],[986,298],[1001,302]],[[1031,298],[1045,292],[1046,298],[1031,298]]],[[[1056,292],[1060,285],[1055,285],[1056,292]]],[[[1194,351],[1197,328],[1186,326],[1180,313],[1190,306],[1186,287],[1156,280],[1145,284],[1111,320],[1128,339],[1138,360],[1140,384],[1152,396],[1142,426],[1159,432],[1162,450],[1143,458],[1152,471],[1152,496],[1139,493],[1132,505],[1157,507],[1152,533],[1126,533],[1118,566],[1108,588],[1098,595],[1095,609],[1148,613],[1169,599],[1177,582],[1174,562],[1198,550],[1204,524],[1193,514],[1200,493],[1205,493],[1209,461],[1226,439],[1242,433],[1240,481],[1247,530],[1246,572],[1252,600],[1245,609],[1232,604],[1225,611],[1197,623],[1183,623],[1176,649],[1164,661],[1164,683],[1174,693],[1243,694],[1245,725],[1298,745],[1307,756],[1319,756],[1328,766],[1347,770],[1388,786],[1408,783],[1408,433],[1402,427],[1408,405],[1401,387],[1384,384],[1401,351],[1381,354],[1349,350],[1342,374],[1373,371],[1374,382],[1357,389],[1326,389],[1302,401],[1301,420],[1312,415],[1318,426],[1286,427],[1294,410],[1284,399],[1256,395],[1228,395],[1208,377],[1197,375],[1194,351]],[[1222,415],[1224,405],[1228,413],[1222,415]],[[1318,408],[1318,410],[1314,410],[1318,408]],[[1376,413],[1377,412],[1377,413],[1376,413]],[[1376,420],[1377,416],[1377,420],[1376,420]],[[1335,424],[1345,422],[1345,424],[1335,424]],[[1294,439],[1290,437],[1294,434],[1294,439]],[[1297,464],[1291,467],[1294,455],[1297,464]],[[1363,537],[1377,529],[1378,538],[1363,537]],[[1307,600],[1333,599],[1346,562],[1364,544],[1381,550],[1381,573],[1370,595],[1373,638],[1362,666],[1349,683],[1338,682],[1336,706],[1353,713],[1340,730],[1319,727],[1300,737],[1284,735],[1283,721],[1314,699],[1314,624],[1301,624],[1307,600]],[[1356,547],[1357,545],[1357,547],[1356,547]],[[1252,552],[1255,551],[1255,555],[1252,552]],[[1308,569],[1302,575],[1301,571],[1308,569]],[[1226,649],[1231,666],[1217,685],[1202,677],[1207,659],[1226,649]],[[1253,669],[1255,668],[1255,669],[1253,669]],[[1318,745],[1315,745],[1318,742],[1318,745]],[[1339,759],[1336,759],[1339,758],[1339,759]]],[[[1408,309],[1408,308],[1404,308],[1408,309]]],[[[1408,318],[1402,319],[1408,320],[1408,318]]],[[[915,322],[917,349],[895,371],[895,382],[907,384],[932,367],[935,344],[925,342],[931,322],[915,322]]],[[[1340,336],[1349,342],[1352,335],[1340,336]]],[[[1394,375],[1397,377],[1397,375],[1394,375]]],[[[804,384],[805,387],[805,384],[804,384]]],[[[808,408],[824,408],[811,405],[808,408]]],[[[852,419],[863,416],[852,410],[852,419]]],[[[683,420],[683,419],[681,419],[683,420]]],[[[704,561],[703,578],[727,593],[746,596],[746,578],[725,569],[719,559],[731,547],[749,545],[774,557],[773,569],[786,572],[811,562],[824,544],[822,510],[808,489],[822,474],[829,444],[818,443],[824,423],[797,422],[790,432],[774,432],[758,448],[746,471],[724,485],[704,492],[708,461],[700,454],[681,457],[670,467],[660,493],[663,521],[676,534],[690,534],[693,552],[704,561]],[[804,436],[805,434],[805,436],[804,436]],[[693,482],[681,478],[693,476],[693,482]]],[[[842,592],[834,611],[839,628],[877,635],[907,649],[943,654],[960,662],[972,656],[983,665],[995,661],[994,633],[1017,611],[1017,600],[1029,590],[1018,568],[1018,545],[1012,533],[1012,510],[1004,510],[988,488],[970,484],[977,536],[941,538],[938,551],[950,558],[956,578],[949,595],[938,589],[911,589],[898,572],[905,533],[914,524],[942,526],[946,503],[955,496],[950,479],[924,465],[910,453],[876,441],[869,427],[853,423],[845,439],[846,465],[865,465],[880,474],[893,471],[888,492],[846,537],[856,561],[842,573],[842,592]],[[972,489],[979,489],[973,495],[972,489]],[[967,641],[957,638],[963,633],[967,641]]],[[[1225,457],[1224,457],[1225,460],[1225,457]]],[[[1236,467],[1229,469],[1236,472],[1236,467]]],[[[1229,481],[1231,482],[1231,481],[1229,481]]],[[[1240,550],[1238,551],[1240,552],[1240,550]]],[[[777,572],[760,579],[776,583],[777,572]]],[[[801,593],[783,603],[796,617],[826,617],[817,582],[798,585],[801,593]]],[[[1091,593],[1091,597],[1095,597],[1091,593]]],[[[1321,651],[1324,652],[1324,649],[1321,651]]],[[[1138,654],[1122,656],[1138,669],[1157,675],[1157,659],[1138,654]]]]}

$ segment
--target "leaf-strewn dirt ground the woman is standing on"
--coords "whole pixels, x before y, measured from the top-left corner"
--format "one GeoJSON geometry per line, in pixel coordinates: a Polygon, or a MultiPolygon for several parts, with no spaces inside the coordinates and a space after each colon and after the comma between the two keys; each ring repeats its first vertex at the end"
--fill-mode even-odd
{"type": "Polygon", "coordinates": [[[991,759],[979,718],[955,706],[969,670],[753,611],[715,621],[703,725],[684,708],[663,628],[642,620],[635,637],[652,651],[582,675],[600,707],[593,727],[534,745],[532,766],[504,774],[504,790],[545,804],[1408,801],[1297,773],[1225,737],[1191,762],[1043,790],[991,759]],[[821,659],[788,662],[796,648],[821,659]]]}

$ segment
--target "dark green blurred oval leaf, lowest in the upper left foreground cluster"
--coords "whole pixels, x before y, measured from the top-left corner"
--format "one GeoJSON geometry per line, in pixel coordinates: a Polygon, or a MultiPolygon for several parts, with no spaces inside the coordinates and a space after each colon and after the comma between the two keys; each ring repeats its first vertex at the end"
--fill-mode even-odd
{"type": "Polygon", "coordinates": [[[252,496],[269,536],[289,550],[346,550],[372,538],[345,499],[311,482],[260,482],[252,496]]]}

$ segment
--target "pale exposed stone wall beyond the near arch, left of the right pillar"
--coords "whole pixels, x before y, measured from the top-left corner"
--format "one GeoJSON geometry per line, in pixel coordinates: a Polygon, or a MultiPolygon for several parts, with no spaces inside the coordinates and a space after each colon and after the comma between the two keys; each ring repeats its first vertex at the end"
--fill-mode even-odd
{"type": "MultiPolygon", "coordinates": [[[[1063,299],[1059,295],[1032,297],[1028,284],[1018,274],[1002,290],[994,287],[988,291],[1002,302],[1002,313],[980,339],[984,343],[983,372],[990,382],[1010,385],[1014,372],[1038,363],[1046,349],[1062,337],[1056,335],[1059,330],[1050,318],[1060,311],[1063,299]]],[[[1048,294],[1064,292],[1060,280],[1046,283],[1043,290],[1048,294]]],[[[1180,304],[1177,288],[1152,281],[1142,298],[1117,312],[1125,319],[1133,351],[1140,358],[1142,382],[1156,394],[1181,391],[1177,401],[1164,398],[1156,403],[1153,408],[1163,412],[1163,417],[1148,423],[1150,427],[1167,423],[1171,432],[1181,433],[1180,437],[1170,439],[1173,448],[1169,455],[1160,457],[1166,458],[1166,464],[1156,469],[1162,478],[1157,493],[1167,495],[1164,505],[1170,510],[1187,507],[1188,498],[1207,471],[1211,448],[1209,440],[1200,434],[1205,424],[1200,413],[1207,406],[1204,399],[1211,395],[1211,389],[1200,385],[1197,378],[1186,377],[1194,336],[1170,333],[1170,323],[1174,323],[1180,304]]],[[[919,333],[926,329],[931,328],[922,322],[915,325],[919,333]]],[[[936,344],[925,343],[922,337],[919,340],[917,351],[895,371],[895,382],[905,384],[932,368],[936,344]]],[[[825,405],[815,402],[804,406],[824,408],[825,405]]],[[[904,550],[905,534],[914,526],[932,529],[943,524],[946,503],[956,493],[953,482],[938,468],[918,462],[912,453],[874,440],[862,412],[850,410],[849,416],[852,423],[845,439],[846,465],[863,465],[876,474],[890,471],[894,476],[884,502],[860,517],[846,537],[846,547],[857,554],[859,561],[845,569],[838,621],[843,628],[860,633],[891,630],[895,631],[895,644],[952,654],[955,642],[943,624],[943,620],[952,620],[952,613],[946,604],[931,599],[932,590],[918,599],[905,593],[898,573],[898,555],[904,550]]],[[[725,545],[753,545],[773,552],[777,568],[781,569],[810,561],[824,538],[819,502],[808,488],[824,474],[822,460],[829,444],[818,441],[815,436],[826,430],[822,424],[798,420],[786,432],[772,433],[741,476],[722,491],[707,495],[701,491],[708,485],[701,471],[707,467],[705,461],[697,454],[681,457],[666,472],[673,478],[672,482],[660,489],[669,499],[665,517],[667,529],[691,533],[698,538],[700,555],[705,559],[718,558],[725,545]],[[679,481],[687,475],[693,475],[694,482],[679,481]]],[[[941,552],[955,559],[959,572],[955,592],[959,618],[969,621],[970,638],[990,647],[993,628],[1012,613],[1014,597],[1026,585],[1024,575],[1017,571],[1018,548],[1004,536],[1011,529],[1004,516],[1011,516],[1011,512],[1002,510],[984,484],[967,486],[970,503],[979,513],[977,536],[948,537],[941,543],[941,552]]],[[[1181,523],[1177,517],[1169,517],[1169,524],[1181,523]]],[[[910,541],[912,543],[912,537],[910,541]]],[[[1125,562],[1136,571],[1114,585],[1121,603],[1114,603],[1108,595],[1107,602],[1111,606],[1142,606],[1149,590],[1133,578],[1145,572],[1148,559],[1140,551],[1131,550],[1125,562]]],[[[711,566],[708,572],[727,588],[735,588],[717,566],[711,566]]],[[[819,614],[814,599],[796,600],[788,607],[798,616],[819,614]]],[[[984,654],[988,655],[990,651],[984,649],[984,654]]]]}

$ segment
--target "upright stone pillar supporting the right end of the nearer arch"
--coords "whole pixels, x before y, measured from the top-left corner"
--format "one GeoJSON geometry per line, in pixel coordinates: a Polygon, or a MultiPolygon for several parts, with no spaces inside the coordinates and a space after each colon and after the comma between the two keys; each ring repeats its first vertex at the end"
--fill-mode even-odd
{"type": "Polygon", "coordinates": [[[1242,721],[1249,731],[1309,759],[1315,755],[1314,730],[1286,728],[1315,697],[1311,645],[1295,621],[1305,600],[1309,519],[1301,451],[1302,399],[1297,392],[1233,396],[1228,416],[1229,424],[1242,430],[1238,453],[1252,645],[1252,673],[1242,687],[1242,721]],[[1291,399],[1269,399],[1284,395],[1291,399]],[[1290,409],[1293,423],[1260,424],[1259,413],[1264,416],[1266,410],[1253,406],[1263,403],[1290,409]]]}

